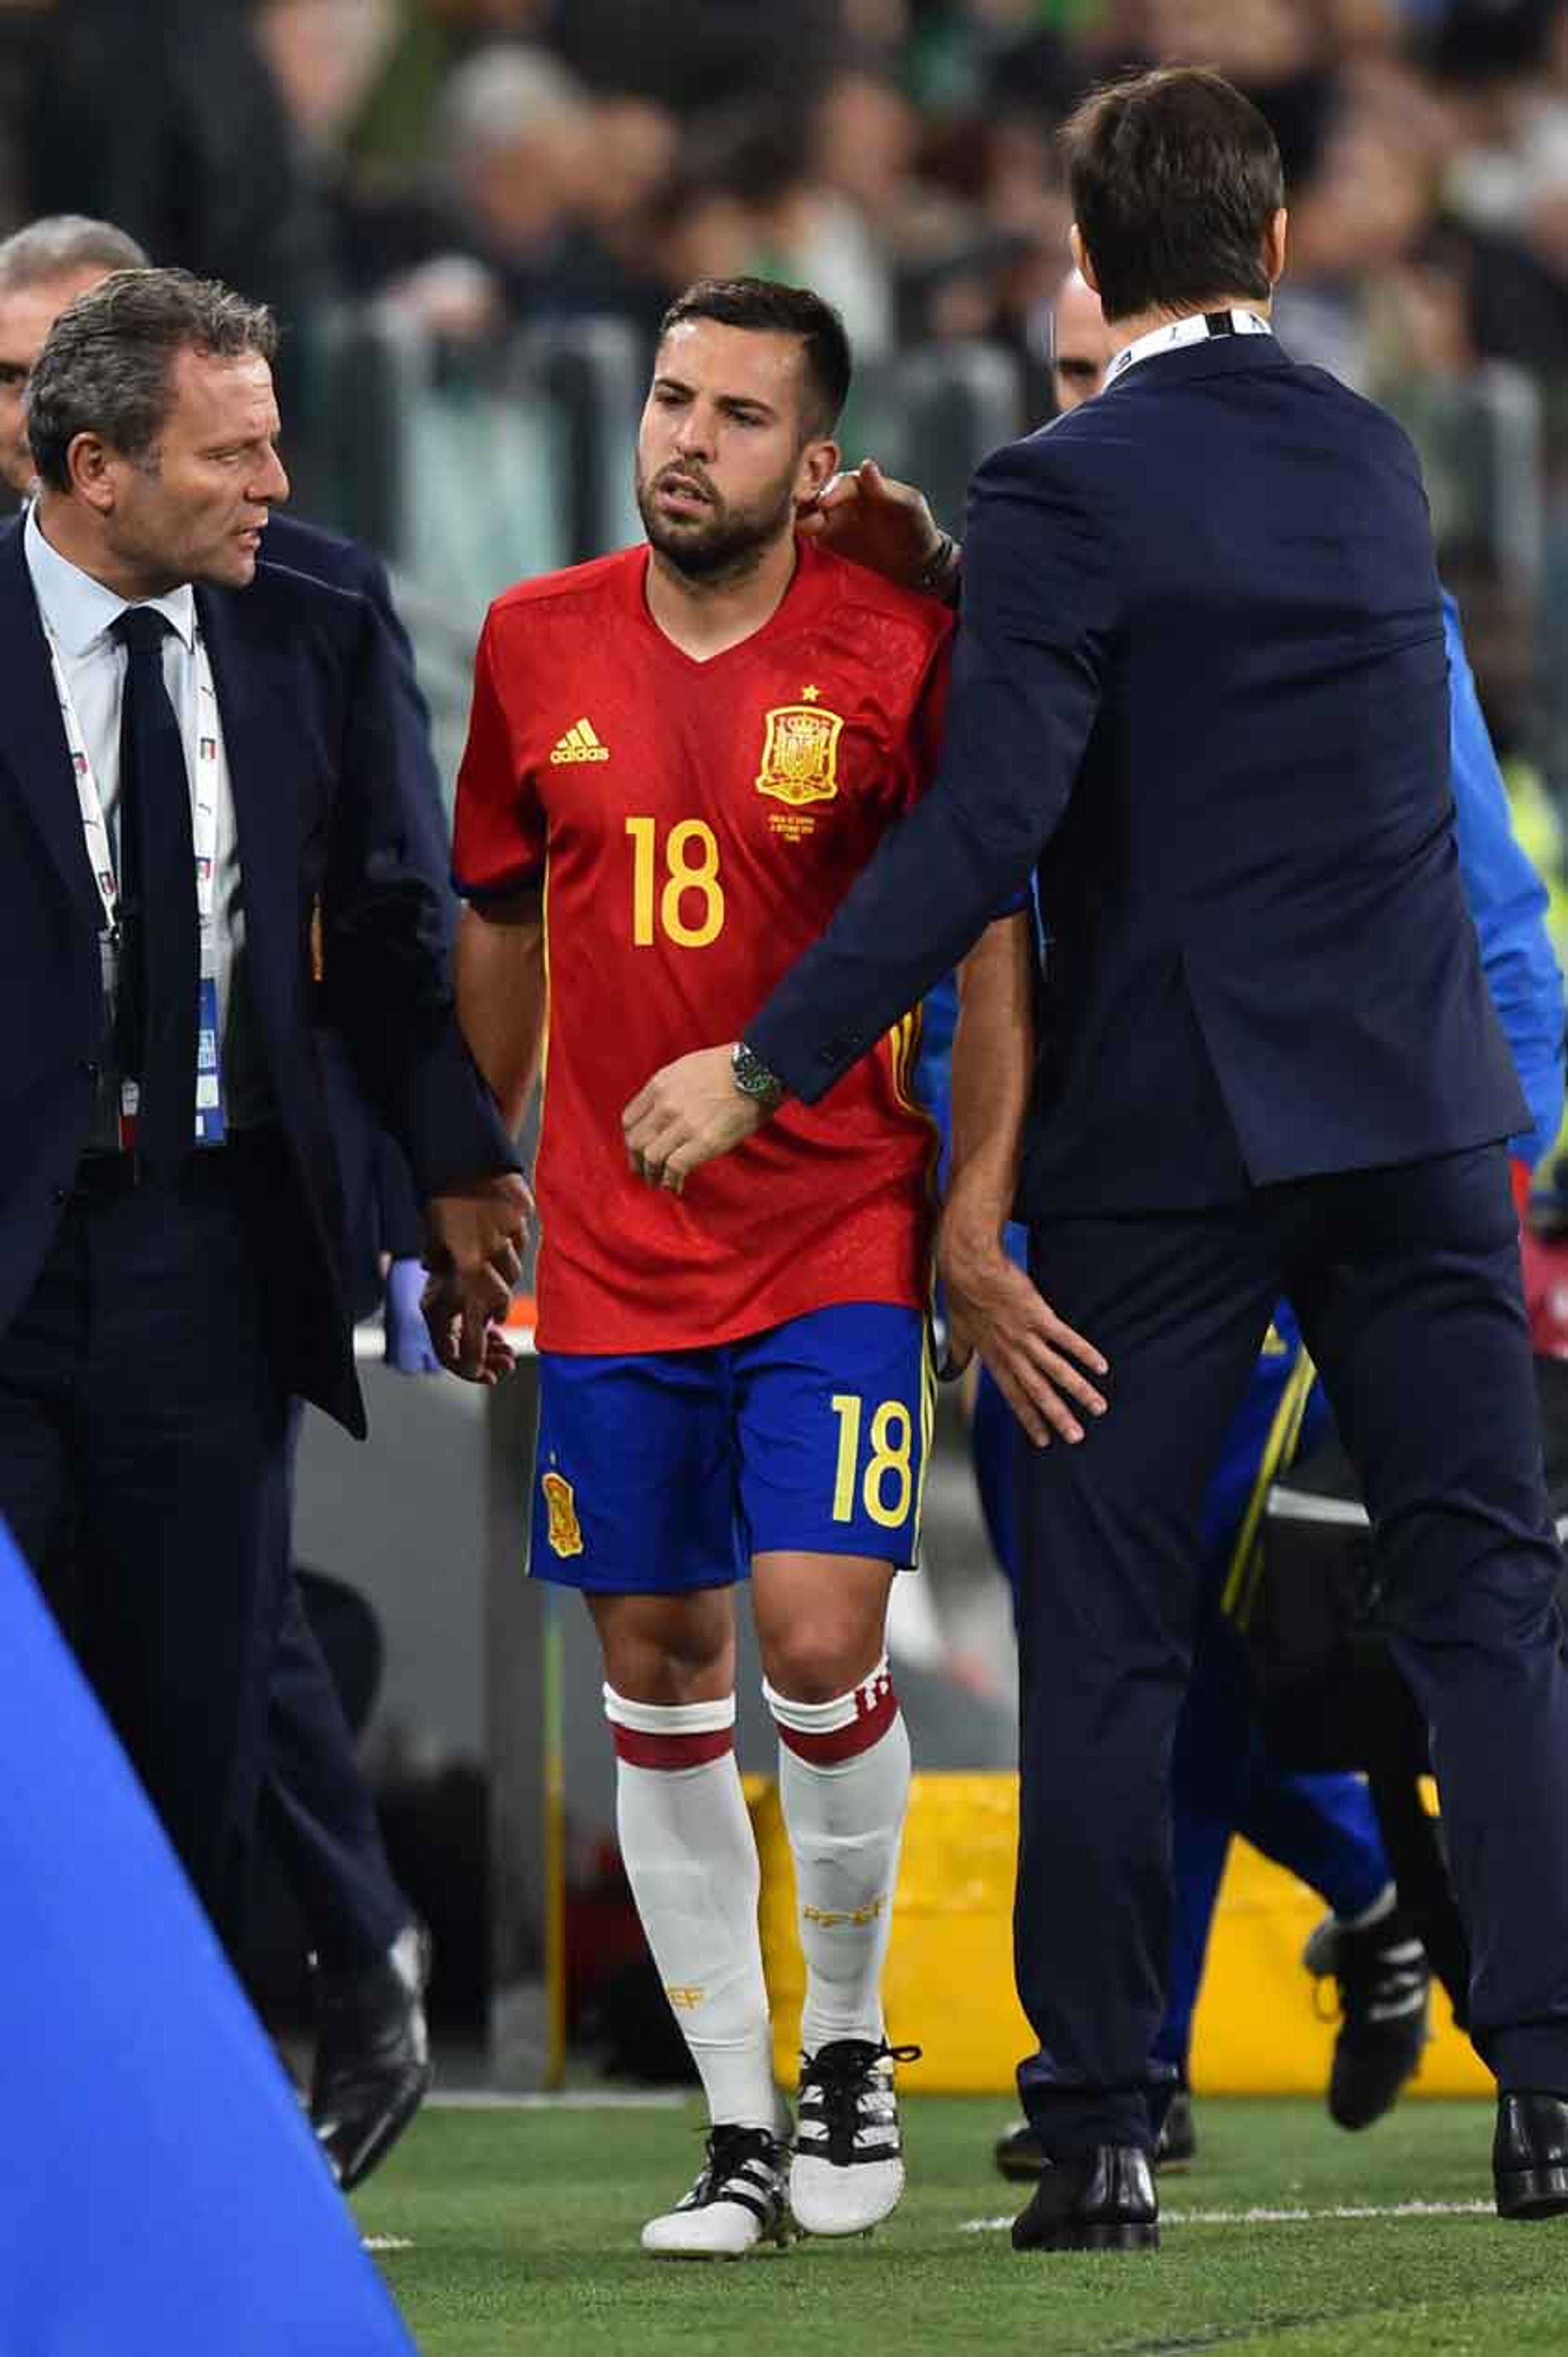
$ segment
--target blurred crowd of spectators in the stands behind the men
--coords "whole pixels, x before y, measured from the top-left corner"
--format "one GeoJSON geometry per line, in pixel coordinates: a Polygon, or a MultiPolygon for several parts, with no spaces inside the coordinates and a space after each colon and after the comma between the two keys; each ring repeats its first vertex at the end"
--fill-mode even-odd
{"type": "Polygon", "coordinates": [[[1162,59],[1219,66],[1278,132],[1280,335],[1417,434],[1549,858],[1568,0],[0,0],[0,229],[104,214],[271,299],[295,351],[373,313],[457,370],[549,323],[646,346],[691,278],[764,271],[837,302],[884,382],[1000,349],[1014,431],[1049,412],[1052,130],[1162,59]]]}

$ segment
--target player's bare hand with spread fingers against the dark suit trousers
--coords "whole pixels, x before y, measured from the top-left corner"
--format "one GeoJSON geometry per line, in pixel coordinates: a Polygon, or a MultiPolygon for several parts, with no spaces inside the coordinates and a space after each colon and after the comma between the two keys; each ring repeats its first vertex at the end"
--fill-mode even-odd
{"type": "Polygon", "coordinates": [[[1106,1374],[1092,1341],[1063,1325],[1028,1275],[1007,1259],[995,1228],[943,1219],[936,1266],[948,1292],[953,1360],[979,1351],[1037,1450],[1082,1440],[1078,1409],[1103,1417],[1089,1374],[1106,1374]],[[1087,1374],[1082,1369],[1089,1369],[1087,1374]]]}

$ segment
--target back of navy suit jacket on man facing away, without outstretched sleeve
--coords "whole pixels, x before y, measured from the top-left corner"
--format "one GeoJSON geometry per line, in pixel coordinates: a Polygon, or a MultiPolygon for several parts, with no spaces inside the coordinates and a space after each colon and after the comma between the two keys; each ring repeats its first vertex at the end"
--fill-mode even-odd
{"type": "Polygon", "coordinates": [[[1127,370],[1035,455],[1111,570],[1085,582],[1101,702],[1040,863],[1026,1193],[1207,1197],[1236,1148],[1271,1181],[1507,1134],[1405,436],[1273,342],[1219,339],[1127,370]]]}

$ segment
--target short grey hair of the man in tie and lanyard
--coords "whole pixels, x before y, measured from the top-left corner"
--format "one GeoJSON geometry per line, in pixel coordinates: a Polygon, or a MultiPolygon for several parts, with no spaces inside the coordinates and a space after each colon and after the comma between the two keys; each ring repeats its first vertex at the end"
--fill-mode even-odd
{"type": "Polygon", "coordinates": [[[276,349],[271,311],[215,278],[116,271],[59,313],[28,377],[28,443],[40,481],[71,488],[78,434],[101,434],[120,457],[153,462],[182,351],[271,361],[276,349]]]}

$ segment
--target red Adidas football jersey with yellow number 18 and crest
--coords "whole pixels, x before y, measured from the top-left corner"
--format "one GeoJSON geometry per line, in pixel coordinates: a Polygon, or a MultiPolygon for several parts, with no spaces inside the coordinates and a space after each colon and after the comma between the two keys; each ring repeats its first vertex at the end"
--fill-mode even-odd
{"type": "Polygon", "coordinates": [[[922,1306],[929,1285],[915,1014],[684,1195],[632,1176],[620,1113],[745,1032],[924,790],[950,620],[799,542],[778,613],[698,662],[648,613],[646,570],[625,549],[495,601],[457,778],[460,891],[545,879],[547,1351],[700,1348],[835,1301],[922,1306]]]}

